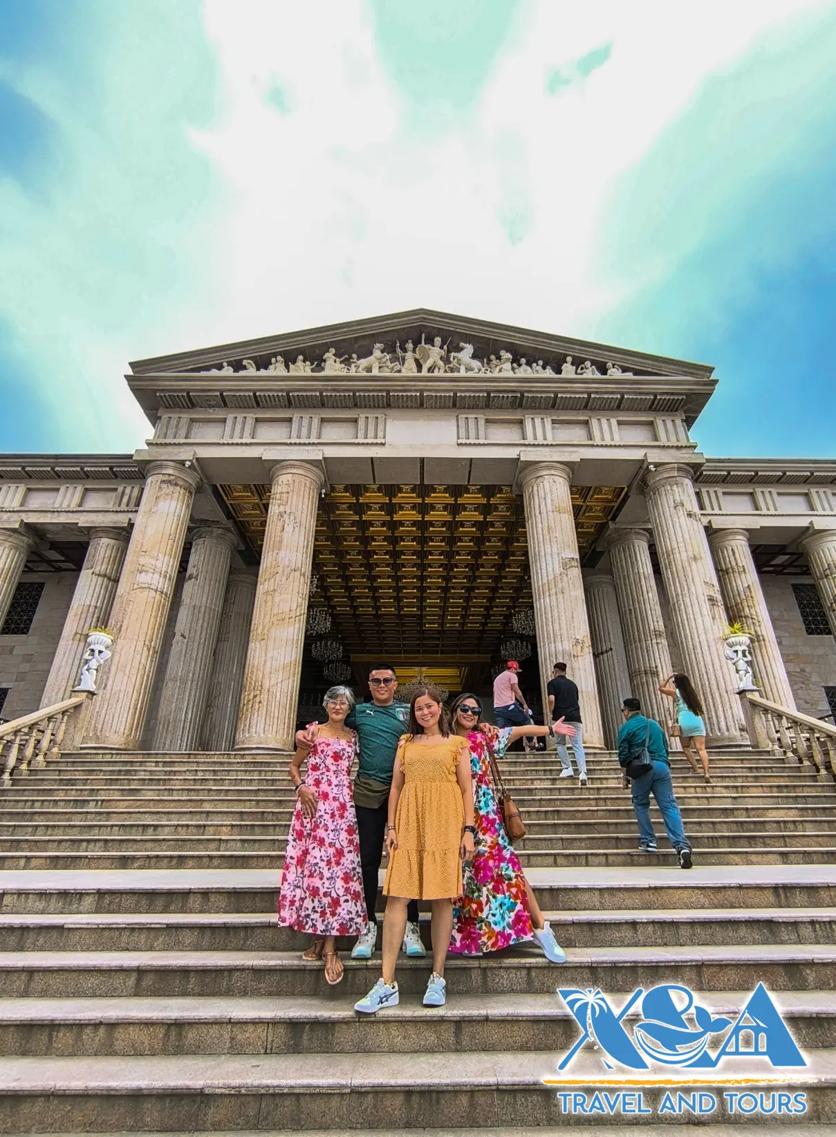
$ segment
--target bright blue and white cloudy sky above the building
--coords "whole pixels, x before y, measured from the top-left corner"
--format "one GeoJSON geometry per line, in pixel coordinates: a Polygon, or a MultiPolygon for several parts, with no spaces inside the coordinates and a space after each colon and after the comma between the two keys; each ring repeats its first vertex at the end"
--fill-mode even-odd
{"type": "Polygon", "coordinates": [[[836,0],[0,0],[0,449],[127,360],[429,307],[713,364],[834,457],[836,0]]]}

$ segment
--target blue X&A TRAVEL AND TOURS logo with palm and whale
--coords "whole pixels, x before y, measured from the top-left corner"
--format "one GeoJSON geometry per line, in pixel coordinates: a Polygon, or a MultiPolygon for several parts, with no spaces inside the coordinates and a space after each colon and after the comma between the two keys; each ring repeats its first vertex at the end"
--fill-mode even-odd
{"type": "Polygon", "coordinates": [[[805,1068],[806,1061],[763,984],[734,1019],[714,1015],[681,984],[661,984],[646,993],[639,987],[620,1011],[601,989],[565,987],[557,993],[581,1036],[557,1067],[569,1072],[543,1080],[588,1090],[558,1092],[563,1113],[710,1114],[718,1107],[712,1090],[722,1086],[735,1087],[721,1090],[729,1114],[806,1112],[806,1095],[789,1088],[797,1082],[793,1071],[805,1068]],[[576,1059],[586,1044],[598,1052],[603,1070],[579,1077],[576,1059]],[[761,1069],[787,1072],[760,1076],[753,1060],[761,1069]],[[605,1073],[616,1067],[630,1072],[605,1073]],[[787,1088],[756,1092],[747,1086],[787,1088]],[[645,1089],[664,1090],[656,1110],[647,1104],[645,1089]]]}

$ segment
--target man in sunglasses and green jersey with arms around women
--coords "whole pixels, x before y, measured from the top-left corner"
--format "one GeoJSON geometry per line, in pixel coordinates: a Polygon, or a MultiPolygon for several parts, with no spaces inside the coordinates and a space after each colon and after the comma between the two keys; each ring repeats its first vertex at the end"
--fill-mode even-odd
{"type": "MultiPolygon", "coordinates": [[[[378,903],[378,880],[383,860],[383,838],[389,810],[389,790],[392,783],[395,752],[398,740],[406,733],[409,707],[398,703],[395,692],[398,680],[395,669],[384,663],[375,663],[369,672],[371,703],[358,703],[347,716],[346,725],[357,731],[359,739],[359,763],[354,780],[354,807],[357,812],[357,836],[359,858],[363,870],[363,893],[366,901],[369,923],[361,932],[351,951],[355,960],[367,960],[378,939],[378,923],[374,908],[378,903]]],[[[297,746],[309,747],[309,731],[299,731],[297,746]]],[[[419,931],[417,901],[409,901],[406,910],[406,932],[404,951],[407,955],[425,955],[419,931]]]]}

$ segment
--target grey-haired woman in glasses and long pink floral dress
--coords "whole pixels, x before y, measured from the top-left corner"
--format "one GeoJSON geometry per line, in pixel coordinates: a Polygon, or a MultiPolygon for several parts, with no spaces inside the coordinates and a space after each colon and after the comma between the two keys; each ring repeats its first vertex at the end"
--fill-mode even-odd
{"type": "Polygon", "coordinates": [[[290,763],[297,799],[284,853],[279,923],[313,935],[303,958],[323,960],[325,979],[333,985],[342,979],[334,937],[357,936],[366,926],[366,907],[350,782],[356,735],[345,725],[354,695],[347,687],[332,687],[322,702],[328,722],[311,749],[297,749],[290,763]]]}

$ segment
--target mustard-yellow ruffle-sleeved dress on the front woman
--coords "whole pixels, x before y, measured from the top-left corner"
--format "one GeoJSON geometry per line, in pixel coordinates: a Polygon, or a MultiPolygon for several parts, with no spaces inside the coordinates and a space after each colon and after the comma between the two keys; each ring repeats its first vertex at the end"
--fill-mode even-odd
{"type": "Polygon", "coordinates": [[[405,783],[395,818],[398,847],[389,857],[383,893],[416,901],[454,899],[462,895],[458,850],[464,824],[456,764],[469,750],[467,739],[452,735],[437,742],[412,742],[408,737],[402,737],[395,756],[405,783]]]}

